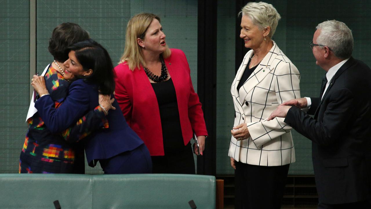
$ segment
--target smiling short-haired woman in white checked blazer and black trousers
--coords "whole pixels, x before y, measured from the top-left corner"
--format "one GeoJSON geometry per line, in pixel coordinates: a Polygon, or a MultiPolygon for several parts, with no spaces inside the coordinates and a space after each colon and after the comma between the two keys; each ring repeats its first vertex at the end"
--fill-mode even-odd
{"type": "Polygon", "coordinates": [[[267,121],[276,107],[300,98],[298,69],[271,40],[281,18],[272,4],[242,8],[240,38],[251,48],[232,83],[235,119],[229,148],[236,208],[280,208],[289,164],[295,162],[291,127],[267,121]]]}

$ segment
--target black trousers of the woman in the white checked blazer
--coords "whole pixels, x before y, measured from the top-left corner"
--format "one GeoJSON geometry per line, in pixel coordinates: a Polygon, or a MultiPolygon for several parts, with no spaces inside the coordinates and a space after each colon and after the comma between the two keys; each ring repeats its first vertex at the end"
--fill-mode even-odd
{"type": "Polygon", "coordinates": [[[259,166],[236,162],[236,209],[279,209],[289,166],[259,166]]]}

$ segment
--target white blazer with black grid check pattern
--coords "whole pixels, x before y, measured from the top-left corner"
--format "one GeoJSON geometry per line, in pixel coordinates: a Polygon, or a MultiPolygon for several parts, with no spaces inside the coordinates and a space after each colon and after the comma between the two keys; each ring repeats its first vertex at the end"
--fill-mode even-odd
{"type": "Polygon", "coordinates": [[[247,123],[251,137],[237,141],[233,136],[229,157],[234,160],[263,166],[295,162],[291,127],[284,118],[267,121],[276,107],[290,99],[300,98],[298,69],[278,48],[275,42],[254,72],[237,91],[242,74],[254,51],[246,53],[232,83],[234,125],[247,123]]]}

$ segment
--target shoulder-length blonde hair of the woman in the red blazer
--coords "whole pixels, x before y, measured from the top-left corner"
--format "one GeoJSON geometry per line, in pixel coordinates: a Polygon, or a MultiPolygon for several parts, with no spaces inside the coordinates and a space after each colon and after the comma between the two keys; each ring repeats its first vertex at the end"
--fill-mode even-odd
{"type": "MultiPolygon", "coordinates": [[[[151,13],[139,13],[131,17],[128,22],[126,27],[124,54],[122,54],[119,63],[126,61],[130,70],[139,68],[140,65],[145,66],[142,48],[137,44],[137,38],[144,39],[145,33],[154,19],[161,22],[160,17],[157,15],[151,13]]],[[[165,51],[162,52],[162,57],[168,58],[170,54],[171,51],[166,45],[165,51]]]]}

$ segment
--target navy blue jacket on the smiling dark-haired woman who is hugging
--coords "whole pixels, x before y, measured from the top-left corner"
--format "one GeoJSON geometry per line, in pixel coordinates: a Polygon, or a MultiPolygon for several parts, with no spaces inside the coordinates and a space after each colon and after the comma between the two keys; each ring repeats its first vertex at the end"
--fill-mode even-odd
{"type": "MultiPolygon", "coordinates": [[[[84,79],[76,80],[70,85],[68,96],[58,109],[48,95],[40,97],[35,103],[46,127],[54,133],[62,132],[98,105],[98,86],[84,79]]],[[[99,159],[114,157],[144,143],[128,126],[116,100],[112,105],[116,110],[109,110],[106,116],[109,128],[99,129],[83,139],[86,159],[91,167],[99,159]]]]}

